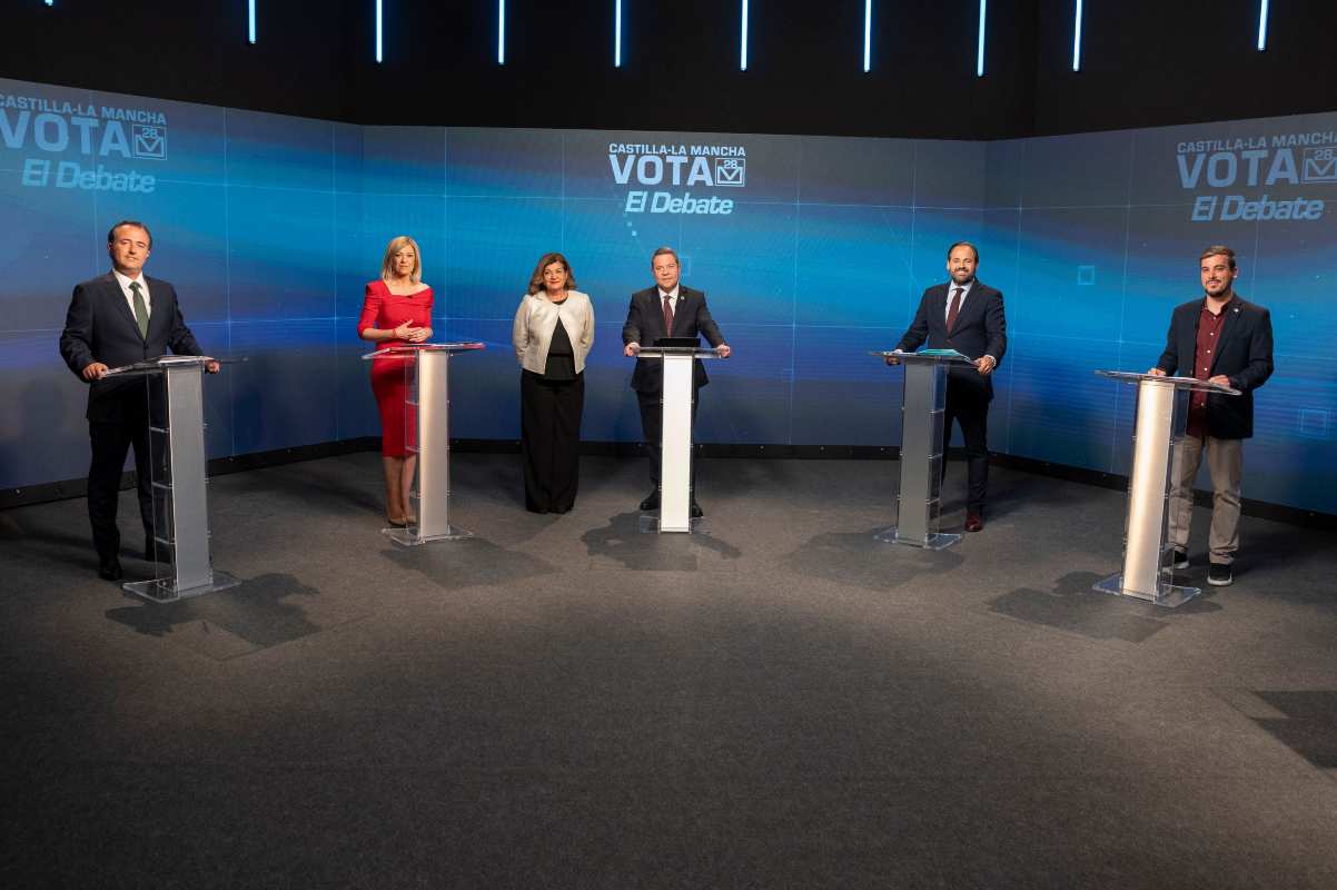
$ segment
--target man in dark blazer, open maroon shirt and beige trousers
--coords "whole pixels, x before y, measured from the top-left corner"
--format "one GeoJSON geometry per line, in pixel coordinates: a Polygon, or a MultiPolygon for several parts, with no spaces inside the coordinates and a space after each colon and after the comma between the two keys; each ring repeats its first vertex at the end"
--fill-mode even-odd
{"type": "Polygon", "coordinates": [[[1213,245],[1199,258],[1203,297],[1177,306],[1166,350],[1148,374],[1181,374],[1230,386],[1239,396],[1193,393],[1183,438],[1170,468],[1171,565],[1189,568],[1193,481],[1202,456],[1211,473],[1211,532],[1207,581],[1234,581],[1239,549],[1239,481],[1243,440],[1253,436],[1253,390],[1271,377],[1271,315],[1235,293],[1235,251],[1213,245]]]}

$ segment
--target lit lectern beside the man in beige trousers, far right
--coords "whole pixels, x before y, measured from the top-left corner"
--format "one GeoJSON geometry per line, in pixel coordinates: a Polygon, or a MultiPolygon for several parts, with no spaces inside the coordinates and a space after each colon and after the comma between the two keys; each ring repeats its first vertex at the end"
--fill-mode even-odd
{"type": "Polygon", "coordinates": [[[1238,396],[1239,390],[1193,377],[1157,377],[1126,372],[1096,372],[1100,377],[1136,384],[1138,410],[1132,428],[1132,469],[1128,473],[1128,512],[1124,520],[1123,571],[1095,585],[1104,593],[1131,596],[1157,605],[1175,607],[1202,592],[1175,584],[1170,533],[1170,490],[1174,450],[1189,420],[1194,390],[1238,396]]]}

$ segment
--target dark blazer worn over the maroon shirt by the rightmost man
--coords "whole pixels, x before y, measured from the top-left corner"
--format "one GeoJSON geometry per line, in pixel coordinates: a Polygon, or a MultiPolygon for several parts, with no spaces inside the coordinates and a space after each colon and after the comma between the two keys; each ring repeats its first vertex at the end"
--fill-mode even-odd
{"type": "MultiPolygon", "coordinates": [[[[1206,297],[1175,306],[1170,315],[1166,351],[1157,367],[1167,374],[1194,377],[1198,351],[1198,318],[1206,297]]],[[[1226,306],[1221,341],[1213,350],[1210,377],[1225,374],[1241,396],[1207,394],[1207,434],[1214,438],[1253,436],[1253,390],[1271,377],[1271,314],[1235,294],[1226,306]]]]}

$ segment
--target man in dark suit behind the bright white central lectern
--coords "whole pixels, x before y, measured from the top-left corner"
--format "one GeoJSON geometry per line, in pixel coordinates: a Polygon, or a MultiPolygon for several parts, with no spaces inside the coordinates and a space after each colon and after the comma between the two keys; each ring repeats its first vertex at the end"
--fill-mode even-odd
{"type": "MultiPolygon", "coordinates": [[[[710,310],[706,309],[706,294],[679,282],[682,266],[678,262],[677,251],[673,247],[656,250],[650,257],[650,271],[655,277],[655,286],[638,290],[631,295],[627,323],[622,326],[622,342],[626,345],[623,354],[627,357],[638,355],[642,343],[654,346],[660,337],[701,335],[714,346],[721,358],[729,358],[729,343],[725,342],[719,326],[715,325],[710,310]]],[[[705,365],[701,363],[701,359],[695,359],[693,367],[693,422],[697,420],[698,394],[701,388],[709,382],[705,365]]],[[[631,374],[631,389],[636,390],[636,401],[640,406],[640,430],[650,452],[650,481],[654,482],[648,497],[640,501],[640,509],[654,510],[659,508],[659,461],[663,441],[663,409],[660,405],[663,369],[660,363],[638,359],[636,370],[631,374]]],[[[693,478],[695,480],[695,464],[693,464],[693,478]]],[[[697,505],[695,486],[693,486],[691,494],[691,514],[693,517],[703,514],[701,506],[697,505]]]]}

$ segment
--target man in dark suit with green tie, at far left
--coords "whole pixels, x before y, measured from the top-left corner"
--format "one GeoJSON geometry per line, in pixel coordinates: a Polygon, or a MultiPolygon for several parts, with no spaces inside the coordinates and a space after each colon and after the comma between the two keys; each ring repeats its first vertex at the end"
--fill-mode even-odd
{"type": "MultiPolygon", "coordinates": [[[[116,498],[126,452],[135,448],[139,482],[139,514],[144,524],[144,559],[152,559],[154,504],[150,489],[148,397],[144,377],[103,380],[111,367],[158,358],[170,349],[182,355],[201,355],[195,337],[186,327],[176,305],[176,291],[143,274],[152,249],[152,235],[143,223],[124,220],[107,233],[112,270],[75,285],[60,355],[88,388],[88,521],[98,549],[98,575],[120,579],[120,531],[116,498]]],[[[210,362],[210,373],[218,362],[210,362]]]]}

